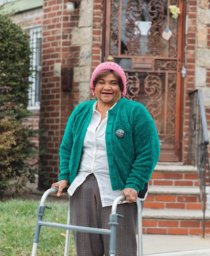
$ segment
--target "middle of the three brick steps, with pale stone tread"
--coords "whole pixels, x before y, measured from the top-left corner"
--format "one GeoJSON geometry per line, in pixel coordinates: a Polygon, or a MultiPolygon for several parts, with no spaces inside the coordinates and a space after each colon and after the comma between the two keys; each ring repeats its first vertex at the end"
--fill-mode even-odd
{"type": "Polygon", "coordinates": [[[149,186],[145,208],[201,210],[199,187],[149,186]]]}

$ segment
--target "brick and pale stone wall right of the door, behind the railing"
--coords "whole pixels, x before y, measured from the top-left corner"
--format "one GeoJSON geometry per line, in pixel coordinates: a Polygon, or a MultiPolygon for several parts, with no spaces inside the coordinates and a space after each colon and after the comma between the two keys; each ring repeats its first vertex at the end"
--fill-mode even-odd
{"type": "MultiPolygon", "coordinates": [[[[202,89],[208,130],[210,130],[210,63],[205,62],[205,56],[210,49],[210,16],[207,17],[209,0],[189,1],[188,8],[188,35],[186,44],[186,78],[185,78],[185,98],[184,98],[184,127],[183,127],[183,162],[188,163],[188,138],[189,138],[189,114],[190,97],[189,92],[195,89],[202,89]],[[208,6],[207,6],[208,5],[208,6]]],[[[210,54],[210,52],[209,52],[210,54]]]]}

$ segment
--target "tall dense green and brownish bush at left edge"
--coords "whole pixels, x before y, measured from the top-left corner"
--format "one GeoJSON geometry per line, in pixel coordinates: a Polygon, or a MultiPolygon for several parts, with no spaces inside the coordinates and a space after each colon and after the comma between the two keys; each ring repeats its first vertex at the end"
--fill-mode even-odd
{"type": "Polygon", "coordinates": [[[37,131],[26,126],[32,75],[29,36],[9,15],[0,13],[0,195],[35,180],[32,160],[38,154],[30,138],[37,131]]]}

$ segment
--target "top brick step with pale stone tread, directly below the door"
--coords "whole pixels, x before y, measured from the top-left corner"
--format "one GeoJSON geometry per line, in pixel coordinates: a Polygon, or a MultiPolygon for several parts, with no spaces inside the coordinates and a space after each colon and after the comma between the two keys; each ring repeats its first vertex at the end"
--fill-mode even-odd
{"type": "Polygon", "coordinates": [[[157,164],[149,185],[199,186],[197,168],[192,165],[157,164]]]}

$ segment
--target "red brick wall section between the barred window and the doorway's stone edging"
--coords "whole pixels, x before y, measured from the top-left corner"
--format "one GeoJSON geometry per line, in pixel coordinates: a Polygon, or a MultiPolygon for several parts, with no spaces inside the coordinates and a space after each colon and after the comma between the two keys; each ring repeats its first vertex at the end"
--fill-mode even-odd
{"type": "Polygon", "coordinates": [[[78,101],[78,84],[72,91],[61,89],[61,69],[78,62],[79,47],[71,47],[72,28],[79,19],[79,9],[66,12],[66,0],[43,1],[42,29],[42,82],[40,99],[40,129],[44,137],[40,145],[44,153],[40,157],[38,188],[49,188],[58,180],[59,146],[69,115],[78,101]],[[46,181],[49,181],[48,183],[46,181]]]}

